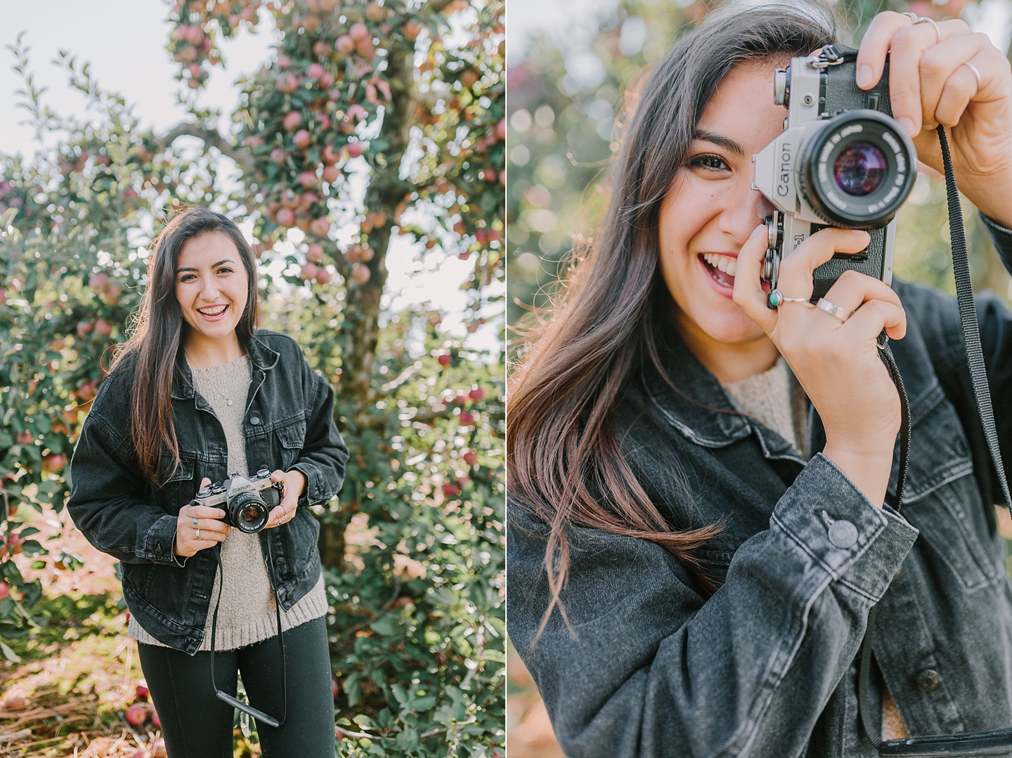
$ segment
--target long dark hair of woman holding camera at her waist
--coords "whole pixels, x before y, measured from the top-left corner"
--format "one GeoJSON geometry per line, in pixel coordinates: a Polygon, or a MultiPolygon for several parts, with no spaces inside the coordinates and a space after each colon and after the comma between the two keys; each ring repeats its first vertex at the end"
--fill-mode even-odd
{"type": "Polygon", "coordinates": [[[253,336],[259,317],[256,258],[243,233],[227,216],[199,205],[176,214],[155,240],[148,264],[148,286],[135,316],[130,339],[116,354],[112,370],[133,367],[130,437],[137,451],[141,473],[153,482],[168,479],[179,466],[179,444],[172,423],[172,380],[185,322],[176,300],[176,264],[179,252],[190,240],[205,234],[227,236],[239,251],[249,289],[246,310],[236,326],[239,341],[253,336]],[[170,464],[163,460],[169,453],[170,464]]]}

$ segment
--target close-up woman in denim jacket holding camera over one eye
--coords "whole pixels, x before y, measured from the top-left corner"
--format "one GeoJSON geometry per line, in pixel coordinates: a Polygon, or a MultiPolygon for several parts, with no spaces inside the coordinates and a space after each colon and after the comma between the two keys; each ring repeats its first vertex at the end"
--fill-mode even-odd
{"type": "MultiPolygon", "coordinates": [[[[831,41],[815,10],[739,7],[675,46],[594,246],[512,376],[509,633],[567,755],[875,756],[855,661],[875,604],[881,737],[1012,727],[1001,495],[954,303],[848,273],[826,296],[842,319],[766,307],[772,208],[751,157],[783,129],[774,69],[831,41]],[[902,516],[883,329],[913,414],[902,516]]],[[[882,13],[860,87],[887,53],[895,117],[936,170],[948,128],[1012,263],[1008,61],[961,21],[882,13]]],[[[778,288],[806,299],[818,265],[867,242],[818,232],[778,288]]],[[[1008,456],[1012,317],[987,294],[978,312],[1008,456]]]]}

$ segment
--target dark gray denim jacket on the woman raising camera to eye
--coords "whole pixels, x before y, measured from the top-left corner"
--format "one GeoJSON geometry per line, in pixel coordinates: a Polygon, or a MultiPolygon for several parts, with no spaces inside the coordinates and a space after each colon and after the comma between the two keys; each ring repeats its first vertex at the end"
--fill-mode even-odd
{"type": "MultiPolygon", "coordinates": [[[[1008,264],[1012,232],[989,227],[1008,264]]],[[[694,402],[645,369],[614,411],[615,433],[672,523],[688,525],[672,507],[686,501],[684,485],[693,525],[723,519],[701,551],[720,590],[707,597],[651,542],[571,528],[562,600],[575,636],[557,611],[535,643],[549,528],[510,505],[508,629],[566,755],[876,756],[858,727],[855,661],[875,603],[874,676],[912,735],[1012,727],[1012,583],[992,507],[1001,496],[958,315],[941,293],[895,288],[909,328],[892,346],[913,413],[902,517],[873,507],[821,453],[806,461],[758,422],[712,410],[732,406],[685,348],[667,369],[694,402]],[[841,521],[856,529],[834,528],[841,521]]],[[[1012,317],[990,293],[978,315],[1008,462],[1012,317]]],[[[818,451],[825,438],[811,419],[818,451]]]]}

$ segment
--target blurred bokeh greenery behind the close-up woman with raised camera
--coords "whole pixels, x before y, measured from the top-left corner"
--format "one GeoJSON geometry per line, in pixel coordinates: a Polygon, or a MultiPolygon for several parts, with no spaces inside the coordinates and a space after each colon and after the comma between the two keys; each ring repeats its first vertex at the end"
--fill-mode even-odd
{"type": "MultiPolygon", "coordinates": [[[[507,43],[507,321],[511,353],[532,309],[544,307],[574,240],[593,237],[603,213],[608,168],[624,92],[716,3],[702,0],[510,0],[507,43]]],[[[911,10],[936,20],[961,17],[1008,54],[1012,0],[876,2],[839,0],[841,37],[855,45],[875,13],[911,10]]],[[[963,216],[977,289],[1006,301],[1010,277],[973,206],[963,216]]],[[[899,216],[896,272],[954,293],[945,185],[918,175],[899,216]]],[[[1006,541],[1008,511],[999,512],[1006,541]]],[[[512,648],[507,661],[510,758],[562,752],[529,674],[512,648]]]]}

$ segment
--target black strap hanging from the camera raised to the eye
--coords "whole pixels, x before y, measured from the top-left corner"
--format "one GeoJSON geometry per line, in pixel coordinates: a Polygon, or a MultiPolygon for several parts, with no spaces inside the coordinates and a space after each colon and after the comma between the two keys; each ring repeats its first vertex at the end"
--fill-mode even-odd
{"type": "MultiPolygon", "coordinates": [[[[998,474],[998,482],[1005,497],[1005,503],[1012,513],[1012,497],[1009,497],[1008,482],[1005,477],[1005,467],[1002,464],[1002,453],[998,447],[998,433],[995,429],[995,416],[991,406],[991,391],[988,387],[988,376],[985,372],[984,350],[981,347],[981,330],[977,323],[977,309],[974,305],[974,288],[969,278],[969,261],[966,256],[966,233],[962,223],[962,206],[959,204],[959,191],[955,185],[955,173],[952,170],[952,158],[949,155],[948,140],[945,129],[938,127],[938,143],[941,146],[942,163],[945,168],[945,190],[948,196],[949,241],[952,246],[952,271],[955,275],[956,303],[959,307],[959,321],[962,324],[963,345],[966,351],[966,361],[969,364],[969,375],[974,386],[974,396],[977,400],[977,411],[984,426],[984,435],[991,451],[991,459],[998,474]]],[[[906,424],[906,452],[904,452],[903,437],[900,446],[900,481],[897,484],[895,508],[900,510],[903,504],[903,487],[906,477],[906,461],[910,450],[910,410],[906,393],[902,390],[903,383],[892,353],[882,351],[882,360],[890,367],[890,374],[900,390],[901,403],[906,424]],[[887,360],[887,358],[889,358],[887,360]],[[894,373],[895,371],[895,373],[894,373]]],[[[903,428],[901,428],[903,434],[903,428]]],[[[861,661],[857,682],[857,704],[861,715],[861,726],[871,744],[882,756],[898,755],[908,758],[929,758],[930,756],[979,756],[1008,755],[1012,750],[1012,729],[997,729],[989,732],[971,732],[959,735],[932,735],[928,737],[908,737],[900,740],[881,739],[881,712],[874,713],[871,697],[871,639],[874,633],[875,612],[877,605],[871,606],[868,613],[868,625],[861,643],[861,661]],[[878,725],[877,728],[875,725],[878,725]]]]}

